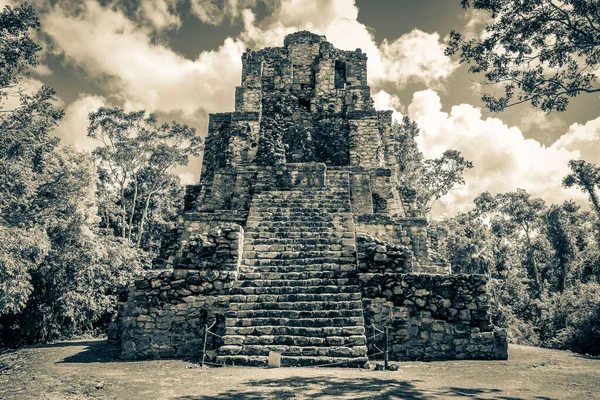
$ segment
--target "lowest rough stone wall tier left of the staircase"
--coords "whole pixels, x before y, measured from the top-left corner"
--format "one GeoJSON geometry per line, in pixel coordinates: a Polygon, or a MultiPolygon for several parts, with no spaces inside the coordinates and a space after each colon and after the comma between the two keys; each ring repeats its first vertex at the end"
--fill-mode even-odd
{"type": "MultiPolygon", "coordinates": [[[[214,270],[146,271],[121,296],[109,339],[125,360],[200,356],[205,325],[216,321],[211,331],[224,333],[232,279],[214,270]]],[[[209,335],[207,349],[220,345],[209,335]]]]}

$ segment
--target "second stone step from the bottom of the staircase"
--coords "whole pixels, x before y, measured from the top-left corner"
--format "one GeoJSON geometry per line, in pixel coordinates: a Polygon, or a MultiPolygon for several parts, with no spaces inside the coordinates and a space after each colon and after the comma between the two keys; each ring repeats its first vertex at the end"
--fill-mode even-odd
{"type": "Polygon", "coordinates": [[[226,345],[219,348],[220,355],[268,356],[277,351],[286,356],[361,357],[367,355],[367,346],[286,346],[286,345],[226,345]]]}

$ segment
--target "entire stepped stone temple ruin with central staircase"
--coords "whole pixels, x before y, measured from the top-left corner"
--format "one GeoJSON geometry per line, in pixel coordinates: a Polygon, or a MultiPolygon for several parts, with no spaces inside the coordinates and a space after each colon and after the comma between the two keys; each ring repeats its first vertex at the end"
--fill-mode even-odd
{"type": "Polygon", "coordinates": [[[506,359],[486,277],[428,254],[427,219],[399,193],[391,111],[373,107],[367,56],[297,32],[247,50],[235,111],[211,114],[200,184],[154,270],[120,295],[124,359],[361,366],[506,359]]]}

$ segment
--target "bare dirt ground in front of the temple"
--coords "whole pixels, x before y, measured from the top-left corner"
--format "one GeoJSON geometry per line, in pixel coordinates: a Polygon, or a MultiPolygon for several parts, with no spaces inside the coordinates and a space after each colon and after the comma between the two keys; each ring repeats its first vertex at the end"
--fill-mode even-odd
{"type": "Polygon", "coordinates": [[[511,346],[508,361],[399,363],[399,371],[204,368],[120,361],[105,340],[0,354],[0,399],[599,399],[600,359],[511,346]]]}

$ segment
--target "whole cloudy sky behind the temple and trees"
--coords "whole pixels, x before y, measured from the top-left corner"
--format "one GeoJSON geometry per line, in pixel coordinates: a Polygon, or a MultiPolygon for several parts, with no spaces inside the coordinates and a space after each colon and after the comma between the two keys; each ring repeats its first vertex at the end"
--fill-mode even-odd
{"type": "MultiPolygon", "coordinates": [[[[0,0],[0,5],[15,2],[0,0]]],[[[408,114],[421,127],[427,157],[460,150],[474,168],[446,196],[438,214],[472,199],[523,188],[549,203],[587,200],[561,188],[567,162],[600,164],[600,99],[582,95],[565,113],[528,105],[493,115],[481,108],[477,77],[443,55],[450,30],[480,35],[486,16],[460,0],[33,0],[39,11],[42,65],[32,84],[58,92],[64,141],[93,148],[87,114],[101,105],[156,111],[206,135],[208,113],[233,110],[246,48],[281,46],[301,29],[336,47],[363,49],[376,106],[408,114]]],[[[179,171],[197,181],[194,160],[179,171]]]]}

